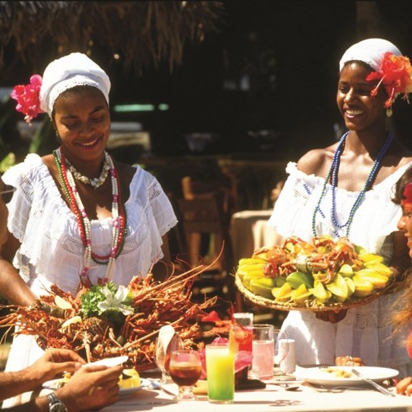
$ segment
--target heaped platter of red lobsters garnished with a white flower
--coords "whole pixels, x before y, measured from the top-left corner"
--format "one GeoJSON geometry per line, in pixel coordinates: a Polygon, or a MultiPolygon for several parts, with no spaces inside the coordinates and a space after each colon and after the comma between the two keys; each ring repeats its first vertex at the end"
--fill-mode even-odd
{"type": "Polygon", "coordinates": [[[217,300],[191,300],[192,282],[205,268],[171,274],[164,282],[148,273],[133,277],[127,286],[83,285],[76,295],[52,284],[30,306],[0,306],[10,309],[0,317],[0,328],[18,325],[14,334],[36,336],[43,349],[71,349],[88,363],[110,358],[136,371],[153,369],[155,339],[164,325],[172,325],[185,347],[196,347],[202,334],[198,319],[217,300]]]}

